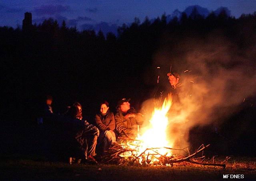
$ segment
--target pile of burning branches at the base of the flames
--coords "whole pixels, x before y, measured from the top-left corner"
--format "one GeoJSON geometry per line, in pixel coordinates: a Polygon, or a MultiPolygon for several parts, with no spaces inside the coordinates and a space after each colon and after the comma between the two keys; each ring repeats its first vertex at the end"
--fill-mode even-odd
{"type": "Polygon", "coordinates": [[[160,148],[146,148],[144,151],[142,151],[139,155],[136,154],[138,150],[136,150],[136,144],[139,146],[139,141],[134,140],[131,138],[119,138],[120,141],[116,142],[114,146],[109,148],[108,153],[106,153],[103,157],[101,157],[100,163],[112,163],[112,164],[118,164],[118,165],[144,165],[144,166],[173,166],[175,165],[184,165],[184,163],[192,163],[197,165],[210,165],[210,166],[219,166],[223,167],[225,169],[226,162],[229,157],[226,157],[226,160],[223,161],[223,163],[215,163],[214,157],[212,158],[212,163],[209,163],[208,161],[204,161],[205,156],[202,155],[200,157],[196,157],[199,155],[199,153],[203,153],[203,151],[210,146],[208,144],[207,146],[204,146],[203,144],[196,149],[196,151],[192,154],[190,154],[190,151],[188,148],[183,149],[174,149],[174,148],[167,148],[166,154],[160,154],[158,150],[160,148]],[[130,144],[135,146],[135,149],[130,148],[130,144]],[[183,151],[184,155],[170,155],[167,156],[167,152],[170,150],[180,150],[183,151]],[[150,151],[150,153],[148,153],[150,151]]]}

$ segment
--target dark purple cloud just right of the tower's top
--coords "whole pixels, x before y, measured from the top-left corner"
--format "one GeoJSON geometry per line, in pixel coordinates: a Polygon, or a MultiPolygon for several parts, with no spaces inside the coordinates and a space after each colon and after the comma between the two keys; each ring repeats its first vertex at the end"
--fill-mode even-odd
{"type": "Polygon", "coordinates": [[[34,12],[38,16],[42,15],[55,15],[60,14],[62,12],[69,12],[70,6],[62,6],[62,5],[46,5],[46,6],[40,6],[39,8],[34,8],[34,12]]]}

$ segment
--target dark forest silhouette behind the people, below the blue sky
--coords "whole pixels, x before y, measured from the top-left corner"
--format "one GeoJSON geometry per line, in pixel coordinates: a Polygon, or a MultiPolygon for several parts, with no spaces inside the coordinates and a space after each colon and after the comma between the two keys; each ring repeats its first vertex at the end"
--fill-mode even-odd
{"type": "Polygon", "coordinates": [[[154,79],[147,71],[156,51],[168,45],[170,53],[182,56],[174,52],[181,39],[206,37],[215,30],[245,49],[255,43],[248,32],[256,32],[256,12],[237,19],[224,11],[203,17],[196,10],[170,22],[165,14],[154,22],[134,18],[131,25],[118,28],[118,35],[106,36],[68,28],[51,18],[26,30],[0,27],[2,119],[30,119],[33,105],[45,94],[53,96],[58,112],[79,101],[90,116],[101,100],[107,99],[114,110],[122,97],[132,98],[139,108],[156,86],[144,80],[145,74],[154,79]]]}

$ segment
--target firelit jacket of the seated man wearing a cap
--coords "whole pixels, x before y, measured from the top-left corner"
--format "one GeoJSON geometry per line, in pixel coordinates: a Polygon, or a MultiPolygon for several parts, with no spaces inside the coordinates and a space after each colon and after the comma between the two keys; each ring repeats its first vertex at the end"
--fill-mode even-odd
{"type": "Polygon", "coordinates": [[[133,113],[135,114],[135,118],[128,118],[126,119],[124,116],[128,114],[125,112],[122,112],[120,109],[118,109],[115,120],[116,120],[116,131],[118,132],[119,136],[125,136],[124,132],[126,134],[136,134],[137,132],[137,125],[141,125],[143,122],[143,116],[140,113],[133,113]]]}

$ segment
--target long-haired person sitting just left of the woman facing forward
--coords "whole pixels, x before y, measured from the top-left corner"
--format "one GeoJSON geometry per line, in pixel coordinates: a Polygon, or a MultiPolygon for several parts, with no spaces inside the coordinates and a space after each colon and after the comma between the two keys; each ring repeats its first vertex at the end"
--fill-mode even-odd
{"type": "Polygon", "coordinates": [[[97,163],[94,157],[96,156],[95,149],[99,136],[98,128],[92,124],[89,124],[86,120],[78,119],[81,116],[81,111],[79,110],[77,104],[73,104],[69,108],[69,110],[66,112],[66,116],[73,118],[78,123],[80,122],[80,126],[79,124],[76,124],[76,126],[73,124],[73,126],[69,127],[71,137],[75,138],[76,142],[79,144],[78,149],[80,151],[77,152],[77,157],[82,158],[84,161],[97,163]],[[81,125],[83,126],[81,127],[81,125]]]}

